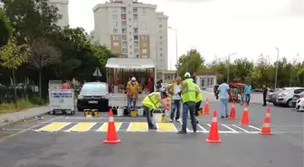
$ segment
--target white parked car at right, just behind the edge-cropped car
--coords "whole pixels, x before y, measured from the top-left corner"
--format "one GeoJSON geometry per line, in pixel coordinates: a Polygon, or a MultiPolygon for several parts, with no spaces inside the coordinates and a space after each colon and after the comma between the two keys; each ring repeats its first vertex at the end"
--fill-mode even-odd
{"type": "Polygon", "coordinates": [[[293,95],[294,94],[299,94],[303,91],[304,91],[304,88],[298,88],[298,87],[287,89],[287,90],[285,90],[283,92],[280,92],[278,94],[276,102],[280,106],[295,107],[292,104],[293,95]]]}

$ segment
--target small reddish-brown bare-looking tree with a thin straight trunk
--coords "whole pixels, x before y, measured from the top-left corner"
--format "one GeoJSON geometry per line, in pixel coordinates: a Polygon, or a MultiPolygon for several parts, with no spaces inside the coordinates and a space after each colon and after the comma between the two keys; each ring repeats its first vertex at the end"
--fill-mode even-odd
{"type": "Polygon", "coordinates": [[[43,39],[33,40],[28,63],[39,72],[39,97],[42,97],[43,68],[61,62],[62,53],[43,39]]]}

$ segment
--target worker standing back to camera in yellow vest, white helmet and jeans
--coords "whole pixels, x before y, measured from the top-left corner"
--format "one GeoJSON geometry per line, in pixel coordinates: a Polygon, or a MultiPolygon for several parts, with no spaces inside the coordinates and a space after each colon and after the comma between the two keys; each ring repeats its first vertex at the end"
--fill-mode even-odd
{"type": "Polygon", "coordinates": [[[196,95],[195,83],[191,79],[189,72],[185,72],[185,80],[182,82],[182,101],[183,101],[183,125],[182,130],[178,131],[178,134],[186,134],[187,125],[187,113],[190,111],[191,124],[196,133],[196,120],[195,120],[195,101],[196,95]]]}

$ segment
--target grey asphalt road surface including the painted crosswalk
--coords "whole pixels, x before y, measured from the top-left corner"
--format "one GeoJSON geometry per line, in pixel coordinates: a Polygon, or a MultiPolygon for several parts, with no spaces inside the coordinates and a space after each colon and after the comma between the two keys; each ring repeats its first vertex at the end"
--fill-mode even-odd
{"type": "MultiPolygon", "coordinates": [[[[252,126],[218,119],[221,144],[205,143],[212,115],[200,116],[199,133],[177,135],[180,123],[159,124],[146,130],[142,117],[115,117],[120,144],[102,144],[108,117],[45,116],[0,131],[1,167],[302,167],[304,163],[304,113],[272,107],[273,135],[259,135],[266,107],[249,107],[252,126]]],[[[210,109],[219,109],[210,99],[210,109]]],[[[191,131],[191,125],[187,125],[191,131]]]]}

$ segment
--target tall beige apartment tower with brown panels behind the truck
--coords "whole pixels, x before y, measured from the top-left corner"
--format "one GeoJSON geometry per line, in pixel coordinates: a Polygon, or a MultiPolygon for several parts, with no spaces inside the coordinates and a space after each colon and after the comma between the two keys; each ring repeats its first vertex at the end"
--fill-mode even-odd
{"type": "Polygon", "coordinates": [[[93,8],[93,36],[119,58],[152,58],[167,69],[167,19],[157,5],[110,0],[93,8]]]}

